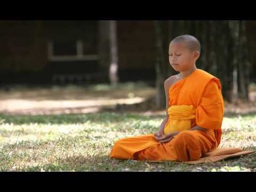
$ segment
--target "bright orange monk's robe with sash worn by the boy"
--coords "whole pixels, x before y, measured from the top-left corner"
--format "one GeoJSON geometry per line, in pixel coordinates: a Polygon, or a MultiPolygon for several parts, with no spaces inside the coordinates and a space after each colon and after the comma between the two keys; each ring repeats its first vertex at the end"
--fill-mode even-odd
{"type": "Polygon", "coordinates": [[[157,142],[154,134],[119,139],[110,157],[195,161],[219,146],[223,113],[224,102],[219,79],[204,70],[196,69],[169,89],[169,117],[164,133],[180,131],[179,134],[166,143],[157,142]],[[208,130],[189,130],[196,125],[208,130]]]}

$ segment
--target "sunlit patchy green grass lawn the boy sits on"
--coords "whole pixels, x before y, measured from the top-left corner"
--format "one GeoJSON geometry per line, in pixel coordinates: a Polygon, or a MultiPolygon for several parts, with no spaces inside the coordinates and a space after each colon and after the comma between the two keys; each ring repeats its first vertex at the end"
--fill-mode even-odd
{"type": "MultiPolygon", "coordinates": [[[[154,133],[163,115],[88,113],[0,114],[1,171],[256,171],[256,153],[214,164],[110,159],[113,143],[154,133]]],[[[221,147],[256,150],[256,114],[223,119],[221,147]]]]}

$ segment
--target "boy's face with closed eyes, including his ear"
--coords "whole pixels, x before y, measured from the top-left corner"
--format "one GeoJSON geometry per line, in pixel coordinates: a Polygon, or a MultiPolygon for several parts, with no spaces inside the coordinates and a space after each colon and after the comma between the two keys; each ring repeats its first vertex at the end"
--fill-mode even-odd
{"type": "Polygon", "coordinates": [[[170,43],[169,45],[169,62],[175,71],[191,68],[197,56],[199,57],[199,52],[191,52],[186,43],[170,43]]]}

